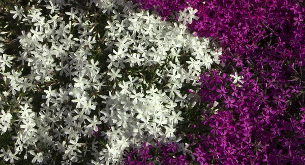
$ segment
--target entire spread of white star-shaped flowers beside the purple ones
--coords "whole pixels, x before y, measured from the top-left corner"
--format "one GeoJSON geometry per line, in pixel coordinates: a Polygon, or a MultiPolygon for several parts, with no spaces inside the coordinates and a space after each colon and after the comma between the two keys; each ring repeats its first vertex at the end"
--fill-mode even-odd
{"type": "Polygon", "coordinates": [[[0,157],[13,163],[24,155],[46,164],[59,153],[60,163],[71,164],[90,153],[89,164],[116,164],[127,147],[179,141],[174,133],[179,109],[188,104],[184,87],[197,85],[201,71],[219,64],[221,55],[209,39],[187,30],[196,18],[182,12],[184,23],[170,23],[130,1],[92,0],[87,6],[111,16],[105,20],[108,58],[96,61],[90,51],[98,34],[88,13],[74,7],[61,13],[69,0],[44,2],[43,9],[11,11],[29,27],[17,39],[19,54],[5,54],[0,43],[0,98],[6,98],[0,100],[0,131],[15,131],[15,148],[0,150],[0,157]],[[109,125],[101,133],[104,148],[94,136],[103,122],[109,125]]]}

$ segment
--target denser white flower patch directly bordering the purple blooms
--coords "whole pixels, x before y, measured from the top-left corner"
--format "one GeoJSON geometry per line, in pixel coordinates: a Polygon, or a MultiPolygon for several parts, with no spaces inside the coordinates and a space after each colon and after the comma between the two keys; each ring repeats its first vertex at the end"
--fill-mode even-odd
{"type": "Polygon", "coordinates": [[[190,34],[186,22],[162,21],[139,9],[113,13],[105,27],[105,50],[111,53],[103,75],[113,90],[100,95],[105,104],[100,119],[111,127],[102,134],[116,152],[106,161],[142,142],[175,141],[175,126],[182,120],[177,110],[188,102],[183,88],[196,85],[201,71],[219,63],[220,55],[208,38],[190,34]]]}

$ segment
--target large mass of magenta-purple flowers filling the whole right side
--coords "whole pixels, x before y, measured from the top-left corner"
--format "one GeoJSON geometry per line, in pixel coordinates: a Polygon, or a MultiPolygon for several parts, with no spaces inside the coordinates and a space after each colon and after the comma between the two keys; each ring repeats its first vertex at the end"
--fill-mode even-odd
{"type": "MultiPolygon", "coordinates": [[[[137,2],[152,9],[145,6],[150,1],[137,2]]],[[[303,3],[188,3],[196,19],[188,24],[189,29],[199,37],[212,37],[223,48],[222,67],[201,75],[200,92],[191,91],[209,105],[203,120],[210,129],[196,138],[200,139],[193,151],[197,160],[201,164],[303,162],[303,3]]],[[[150,5],[158,4],[167,7],[170,3],[150,5]]],[[[184,9],[169,12],[179,10],[184,9]]]]}

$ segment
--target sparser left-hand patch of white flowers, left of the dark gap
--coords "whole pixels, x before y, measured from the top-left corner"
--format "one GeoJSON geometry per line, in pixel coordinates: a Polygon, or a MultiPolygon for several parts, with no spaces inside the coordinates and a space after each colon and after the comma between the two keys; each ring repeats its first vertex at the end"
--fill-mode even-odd
{"type": "Polygon", "coordinates": [[[11,153],[10,149],[1,150],[6,161],[14,162],[19,159],[15,155],[20,154],[27,159],[31,154],[33,163],[46,163],[52,154],[62,152],[62,163],[71,164],[81,156],[78,153],[83,144],[79,139],[93,135],[96,125],[101,124],[97,116],[92,119],[83,115],[96,110],[97,103],[88,91],[101,87],[98,62],[87,60],[96,43],[91,36],[94,26],[87,21],[86,12],[73,7],[66,12],[70,18],[65,22],[58,11],[69,2],[47,3],[46,8],[51,10],[48,16],[42,16],[45,11],[35,6],[26,14],[18,7],[11,11],[14,19],[18,16],[20,24],[29,27],[17,39],[22,49],[19,54],[3,54],[5,49],[0,45],[1,74],[7,88],[1,108],[9,107],[0,114],[0,131],[16,131],[14,154],[6,154],[11,153]],[[76,36],[72,29],[78,31],[76,36]],[[13,62],[18,61],[21,66],[13,69],[13,62]],[[35,96],[37,93],[42,95],[35,96]],[[16,109],[12,109],[14,106],[16,109]],[[13,113],[17,115],[14,119],[13,113]]]}

